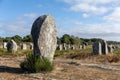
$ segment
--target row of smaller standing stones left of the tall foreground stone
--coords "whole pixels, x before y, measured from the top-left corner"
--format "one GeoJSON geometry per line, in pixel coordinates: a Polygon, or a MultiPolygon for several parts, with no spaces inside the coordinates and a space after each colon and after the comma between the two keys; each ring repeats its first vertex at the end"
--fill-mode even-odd
{"type": "MultiPolygon", "coordinates": [[[[3,43],[3,48],[7,49],[8,51],[17,51],[18,47],[20,47],[21,50],[27,50],[27,45],[25,43],[20,44],[20,46],[17,45],[17,43],[14,40],[10,40],[8,42],[3,43]]],[[[29,49],[33,50],[33,44],[29,44],[29,49]]]]}

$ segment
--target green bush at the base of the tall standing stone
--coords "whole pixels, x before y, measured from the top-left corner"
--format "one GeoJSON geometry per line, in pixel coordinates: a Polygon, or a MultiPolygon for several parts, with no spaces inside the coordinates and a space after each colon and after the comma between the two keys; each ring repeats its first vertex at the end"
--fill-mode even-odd
{"type": "Polygon", "coordinates": [[[51,71],[53,69],[52,63],[43,57],[35,57],[34,54],[27,54],[26,60],[20,64],[23,70],[30,72],[51,71]]]}

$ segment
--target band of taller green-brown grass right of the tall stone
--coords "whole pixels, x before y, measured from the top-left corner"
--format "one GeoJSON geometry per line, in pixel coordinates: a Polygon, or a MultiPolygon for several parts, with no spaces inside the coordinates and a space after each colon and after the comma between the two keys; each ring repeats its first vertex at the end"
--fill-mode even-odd
{"type": "Polygon", "coordinates": [[[78,60],[91,60],[102,63],[116,63],[120,61],[120,49],[116,49],[113,53],[109,53],[108,55],[93,55],[92,46],[88,46],[86,49],[82,50],[56,51],[55,57],[57,56],[65,56],[66,58],[78,60]]]}

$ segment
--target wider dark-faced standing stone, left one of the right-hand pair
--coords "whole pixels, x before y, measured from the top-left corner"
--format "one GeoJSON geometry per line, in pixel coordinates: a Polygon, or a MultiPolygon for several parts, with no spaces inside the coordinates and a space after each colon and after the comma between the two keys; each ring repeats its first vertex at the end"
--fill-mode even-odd
{"type": "Polygon", "coordinates": [[[94,42],[93,43],[93,54],[95,55],[101,55],[102,51],[101,51],[101,43],[100,42],[94,42]]]}

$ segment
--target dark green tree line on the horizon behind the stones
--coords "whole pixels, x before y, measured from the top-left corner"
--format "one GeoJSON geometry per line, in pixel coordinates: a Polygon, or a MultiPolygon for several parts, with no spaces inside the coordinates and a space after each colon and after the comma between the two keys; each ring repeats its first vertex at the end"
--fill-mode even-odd
{"type": "MultiPolygon", "coordinates": [[[[26,35],[24,37],[21,37],[19,35],[15,35],[12,37],[5,37],[2,38],[0,37],[0,42],[8,42],[9,40],[15,40],[18,44],[21,42],[32,42],[32,36],[31,35],[26,35]]],[[[57,44],[92,44],[95,41],[99,41],[101,42],[102,39],[100,38],[91,38],[91,39],[85,39],[85,38],[79,38],[73,35],[69,35],[69,34],[64,34],[62,37],[57,37],[57,44]]],[[[109,44],[120,44],[120,42],[116,42],[116,41],[108,41],[109,44]]]]}

